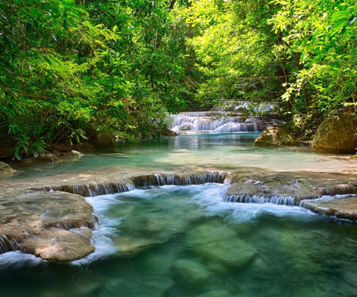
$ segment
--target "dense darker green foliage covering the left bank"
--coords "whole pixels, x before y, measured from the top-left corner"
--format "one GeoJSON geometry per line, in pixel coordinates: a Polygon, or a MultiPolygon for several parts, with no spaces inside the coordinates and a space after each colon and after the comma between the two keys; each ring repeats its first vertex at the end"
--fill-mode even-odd
{"type": "Polygon", "coordinates": [[[161,134],[185,106],[166,1],[5,0],[0,11],[0,130],[17,157],[101,129],[161,134]]]}

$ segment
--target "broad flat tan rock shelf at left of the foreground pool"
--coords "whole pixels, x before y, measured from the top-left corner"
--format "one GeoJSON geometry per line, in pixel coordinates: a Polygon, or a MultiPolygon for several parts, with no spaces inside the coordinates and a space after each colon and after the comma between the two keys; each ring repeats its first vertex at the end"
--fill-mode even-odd
{"type": "Polygon", "coordinates": [[[36,193],[0,201],[0,237],[6,248],[20,250],[46,260],[68,262],[94,252],[86,236],[67,231],[93,228],[93,207],[82,196],[64,193],[36,193]]]}

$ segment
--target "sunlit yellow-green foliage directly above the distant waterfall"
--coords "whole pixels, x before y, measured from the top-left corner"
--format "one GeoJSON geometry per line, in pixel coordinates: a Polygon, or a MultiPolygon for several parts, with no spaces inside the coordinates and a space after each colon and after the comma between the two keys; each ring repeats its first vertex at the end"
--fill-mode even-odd
{"type": "Polygon", "coordinates": [[[187,22],[198,27],[187,42],[206,78],[198,88],[202,101],[261,103],[278,97],[277,63],[271,50],[276,37],[267,24],[273,12],[274,7],[264,0],[197,0],[183,12],[187,22]]]}

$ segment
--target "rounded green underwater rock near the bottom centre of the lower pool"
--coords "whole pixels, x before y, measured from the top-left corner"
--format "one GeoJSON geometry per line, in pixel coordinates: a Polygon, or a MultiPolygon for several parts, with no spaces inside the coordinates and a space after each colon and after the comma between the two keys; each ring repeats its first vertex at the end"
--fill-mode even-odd
{"type": "Polygon", "coordinates": [[[210,273],[201,263],[180,259],[173,265],[175,279],[187,289],[202,289],[209,284],[210,273]]]}

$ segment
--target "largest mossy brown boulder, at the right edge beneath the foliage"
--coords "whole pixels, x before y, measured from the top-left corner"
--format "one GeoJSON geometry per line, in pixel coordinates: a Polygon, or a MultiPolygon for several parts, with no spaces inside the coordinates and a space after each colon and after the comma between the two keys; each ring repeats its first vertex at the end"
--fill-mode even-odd
{"type": "Polygon", "coordinates": [[[317,129],[312,150],[318,153],[354,153],[357,119],[351,114],[327,117],[317,129]]]}

